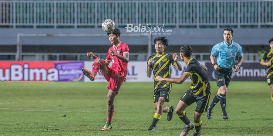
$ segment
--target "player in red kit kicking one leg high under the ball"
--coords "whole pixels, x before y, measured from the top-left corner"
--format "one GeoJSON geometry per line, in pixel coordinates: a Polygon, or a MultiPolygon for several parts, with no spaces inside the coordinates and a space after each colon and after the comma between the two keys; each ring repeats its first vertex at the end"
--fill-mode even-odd
{"type": "Polygon", "coordinates": [[[107,121],[102,130],[109,130],[112,128],[111,122],[115,109],[114,99],[119,92],[121,84],[126,80],[127,63],[129,62],[129,48],[127,44],[120,41],[120,30],[115,28],[107,35],[113,46],[109,48],[106,59],[100,59],[92,52],[86,52],[88,57],[95,59],[95,62],[92,65],[91,72],[83,68],[84,75],[91,81],[95,80],[96,74],[100,70],[104,78],[109,82],[109,92],[107,94],[107,121]],[[110,61],[112,61],[112,66],[108,67],[110,61]]]}

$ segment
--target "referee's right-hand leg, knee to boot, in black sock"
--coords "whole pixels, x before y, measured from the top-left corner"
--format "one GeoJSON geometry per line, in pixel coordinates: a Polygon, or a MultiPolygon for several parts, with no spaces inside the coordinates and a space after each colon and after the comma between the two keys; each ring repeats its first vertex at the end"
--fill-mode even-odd
{"type": "Polygon", "coordinates": [[[223,119],[228,119],[226,112],[226,94],[227,94],[227,86],[220,86],[220,92],[218,90],[217,94],[220,93],[220,104],[223,112],[223,119]]]}

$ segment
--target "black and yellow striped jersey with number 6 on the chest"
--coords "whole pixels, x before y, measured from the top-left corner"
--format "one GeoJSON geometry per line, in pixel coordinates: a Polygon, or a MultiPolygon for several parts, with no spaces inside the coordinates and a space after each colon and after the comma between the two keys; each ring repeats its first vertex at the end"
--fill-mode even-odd
{"type": "Polygon", "coordinates": [[[173,59],[171,54],[162,53],[161,55],[152,55],[149,57],[153,58],[153,62],[151,63],[151,68],[153,70],[153,80],[154,80],[154,90],[158,88],[170,87],[171,83],[169,82],[156,82],[156,76],[162,76],[163,78],[171,78],[170,73],[170,64],[175,65],[176,62],[173,59]]]}

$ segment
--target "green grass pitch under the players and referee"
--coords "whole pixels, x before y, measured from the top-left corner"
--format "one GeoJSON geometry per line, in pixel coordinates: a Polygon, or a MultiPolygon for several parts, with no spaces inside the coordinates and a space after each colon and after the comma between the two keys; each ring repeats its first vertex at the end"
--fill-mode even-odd
{"type": "MultiPolygon", "coordinates": [[[[156,131],[153,83],[123,83],[114,101],[113,128],[101,131],[107,119],[108,83],[0,83],[0,135],[179,135],[183,122],[163,113],[156,131]],[[65,116],[66,115],[66,116],[65,116]]],[[[217,92],[211,82],[213,93],[217,92]]],[[[176,106],[190,83],[173,84],[170,102],[176,106]]],[[[185,111],[190,121],[196,104],[185,111]]],[[[273,103],[266,82],[232,81],[227,92],[228,120],[217,104],[208,120],[202,116],[201,135],[272,135],[273,103]]],[[[191,135],[191,130],[188,135],[191,135]]]]}

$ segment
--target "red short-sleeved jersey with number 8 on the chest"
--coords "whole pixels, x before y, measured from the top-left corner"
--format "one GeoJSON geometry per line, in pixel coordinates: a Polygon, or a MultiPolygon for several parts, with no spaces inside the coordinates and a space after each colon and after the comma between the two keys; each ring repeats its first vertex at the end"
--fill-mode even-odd
{"type": "MultiPolygon", "coordinates": [[[[121,41],[119,42],[117,47],[114,47],[114,45],[113,45],[112,47],[109,48],[109,50],[113,50],[115,53],[118,53],[121,56],[123,56],[123,53],[129,53],[128,45],[121,42],[121,41]]],[[[108,53],[107,53],[107,56],[106,56],[106,60],[112,61],[111,68],[114,69],[114,70],[117,70],[118,73],[120,73],[119,76],[122,77],[124,80],[126,80],[127,63],[123,62],[122,60],[120,60],[116,56],[110,56],[109,50],[108,50],[108,53]]]]}

